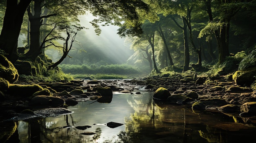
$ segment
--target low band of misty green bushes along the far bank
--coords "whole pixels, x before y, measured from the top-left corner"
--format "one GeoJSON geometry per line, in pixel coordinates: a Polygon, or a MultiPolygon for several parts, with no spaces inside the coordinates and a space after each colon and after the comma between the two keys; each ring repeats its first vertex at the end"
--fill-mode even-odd
{"type": "Polygon", "coordinates": [[[64,73],[71,74],[120,74],[120,75],[129,75],[129,74],[140,74],[142,71],[139,68],[128,64],[111,64],[111,65],[101,65],[96,66],[92,64],[88,65],[70,65],[62,64],[59,65],[59,68],[63,70],[64,73]]]}

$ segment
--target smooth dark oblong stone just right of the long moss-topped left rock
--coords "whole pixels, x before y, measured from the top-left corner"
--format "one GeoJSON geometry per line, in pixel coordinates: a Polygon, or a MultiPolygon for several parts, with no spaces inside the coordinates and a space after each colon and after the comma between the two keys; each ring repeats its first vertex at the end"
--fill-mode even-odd
{"type": "Polygon", "coordinates": [[[30,106],[61,107],[64,100],[60,97],[37,95],[29,101],[30,106]]]}

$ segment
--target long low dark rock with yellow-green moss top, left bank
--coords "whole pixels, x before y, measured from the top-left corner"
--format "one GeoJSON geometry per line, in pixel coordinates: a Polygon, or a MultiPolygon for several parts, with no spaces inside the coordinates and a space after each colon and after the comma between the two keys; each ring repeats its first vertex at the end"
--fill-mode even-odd
{"type": "Polygon", "coordinates": [[[43,90],[43,88],[38,84],[31,84],[31,85],[10,84],[7,93],[15,97],[30,97],[35,92],[38,92],[41,90],[43,90]]]}

